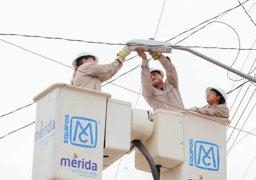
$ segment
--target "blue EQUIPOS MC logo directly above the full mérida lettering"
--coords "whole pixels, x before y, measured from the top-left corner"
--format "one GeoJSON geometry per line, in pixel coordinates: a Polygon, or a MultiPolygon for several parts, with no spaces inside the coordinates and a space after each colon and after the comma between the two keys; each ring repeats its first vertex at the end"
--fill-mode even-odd
{"type": "Polygon", "coordinates": [[[85,117],[71,117],[65,115],[64,143],[95,148],[97,146],[97,122],[85,117]]]}

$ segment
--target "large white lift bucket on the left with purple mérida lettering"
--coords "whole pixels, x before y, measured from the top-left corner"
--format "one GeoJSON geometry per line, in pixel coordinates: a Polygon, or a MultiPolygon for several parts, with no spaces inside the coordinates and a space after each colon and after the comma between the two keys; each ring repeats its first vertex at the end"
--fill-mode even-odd
{"type": "Polygon", "coordinates": [[[34,145],[32,180],[101,180],[109,97],[55,84],[34,98],[35,132],[39,131],[41,139],[34,145]],[[45,128],[50,121],[51,126],[45,128]]]}

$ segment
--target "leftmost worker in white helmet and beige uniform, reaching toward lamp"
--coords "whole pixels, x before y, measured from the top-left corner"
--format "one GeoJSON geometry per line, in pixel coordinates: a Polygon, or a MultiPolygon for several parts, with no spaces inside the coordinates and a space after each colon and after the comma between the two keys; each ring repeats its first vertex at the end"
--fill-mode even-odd
{"type": "Polygon", "coordinates": [[[71,85],[100,91],[101,83],[117,74],[130,53],[129,47],[124,46],[114,62],[109,64],[98,64],[98,57],[89,52],[80,53],[72,63],[75,70],[70,81],[71,85]]]}

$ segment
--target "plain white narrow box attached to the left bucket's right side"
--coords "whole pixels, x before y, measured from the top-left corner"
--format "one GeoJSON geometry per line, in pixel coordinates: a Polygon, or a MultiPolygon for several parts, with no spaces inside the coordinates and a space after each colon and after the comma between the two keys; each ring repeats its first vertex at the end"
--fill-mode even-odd
{"type": "Polygon", "coordinates": [[[108,99],[104,164],[109,161],[114,163],[113,159],[120,155],[125,155],[130,150],[131,105],[131,103],[126,101],[113,98],[108,99]]]}

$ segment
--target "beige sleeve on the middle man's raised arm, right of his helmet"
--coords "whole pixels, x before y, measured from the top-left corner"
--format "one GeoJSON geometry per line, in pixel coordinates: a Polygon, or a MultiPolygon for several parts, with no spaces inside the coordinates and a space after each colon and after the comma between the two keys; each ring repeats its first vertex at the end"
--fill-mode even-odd
{"type": "Polygon", "coordinates": [[[163,55],[158,59],[161,65],[163,66],[166,72],[166,80],[178,88],[178,74],[176,72],[176,68],[171,62],[169,57],[164,57],[163,55]]]}

